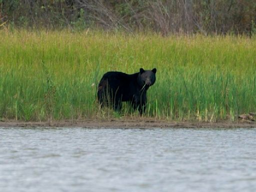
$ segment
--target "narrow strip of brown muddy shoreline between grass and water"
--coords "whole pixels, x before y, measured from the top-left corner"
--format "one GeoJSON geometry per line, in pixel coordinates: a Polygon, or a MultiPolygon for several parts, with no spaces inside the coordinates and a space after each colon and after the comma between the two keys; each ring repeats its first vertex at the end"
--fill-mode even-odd
{"type": "Polygon", "coordinates": [[[148,118],[133,119],[83,119],[48,121],[2,120],[0,127],[86,127],[86,128],[256,128],[255,121],[220,120],[217,122],[169,121],[148,118]]]}

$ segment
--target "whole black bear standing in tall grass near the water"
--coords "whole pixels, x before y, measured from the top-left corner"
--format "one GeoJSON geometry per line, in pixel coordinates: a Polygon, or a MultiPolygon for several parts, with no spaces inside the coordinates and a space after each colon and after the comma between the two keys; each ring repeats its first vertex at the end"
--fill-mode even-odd
{"type": "Polygon", "coordinates": [[[156,68],[139,69],[139,72],[106,72],[99,81],[97,97],[101,106],[110,105],[115,110],[121,109],[122,101],[129,101],[140,114],[145,112],[146,90],[155,82],[156,68]]]}

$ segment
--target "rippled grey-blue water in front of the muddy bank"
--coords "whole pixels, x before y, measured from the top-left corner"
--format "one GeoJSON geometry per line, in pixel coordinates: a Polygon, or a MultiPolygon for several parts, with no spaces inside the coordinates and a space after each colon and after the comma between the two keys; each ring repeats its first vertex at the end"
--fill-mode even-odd
{"type": "Polygon", "coordinates": [[[0,191],[255,191],[256,129],[0,128],[0,191]]]}

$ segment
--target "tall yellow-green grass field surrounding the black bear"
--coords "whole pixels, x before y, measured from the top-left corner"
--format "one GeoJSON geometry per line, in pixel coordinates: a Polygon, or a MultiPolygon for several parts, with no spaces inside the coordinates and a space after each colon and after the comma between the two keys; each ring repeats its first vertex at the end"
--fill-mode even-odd
{"type": "Polygon", "coordinates": [[[157,68],[145,116],[235,120],[256,111],[256,37],[97,31],[0,30],[0,118],[136,116],[101,110],[96,88],[109,70],[157,68]]]}

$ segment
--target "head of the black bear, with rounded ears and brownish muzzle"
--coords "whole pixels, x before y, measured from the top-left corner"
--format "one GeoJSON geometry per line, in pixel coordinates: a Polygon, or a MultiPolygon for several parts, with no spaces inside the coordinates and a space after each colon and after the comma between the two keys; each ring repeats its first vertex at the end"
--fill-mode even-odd
{"type": "Polygon", "coordinates": [[[155,82],[155,73],[156,68],[153,68],[152,70],[144,70],[143,68],[140,68],[138,73],[139,84],[146,87],[153,85],[155,82]]]}

